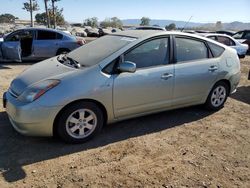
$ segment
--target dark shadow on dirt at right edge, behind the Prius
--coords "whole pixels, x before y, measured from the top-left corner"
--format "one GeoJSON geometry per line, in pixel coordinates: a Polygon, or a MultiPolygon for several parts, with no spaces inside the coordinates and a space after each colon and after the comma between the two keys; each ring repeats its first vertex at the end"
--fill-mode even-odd
{"type": "Polygon", "coordinates": [[[250,86],[240,86],[230,95],[231,98],[250,105],[250,86]]]}

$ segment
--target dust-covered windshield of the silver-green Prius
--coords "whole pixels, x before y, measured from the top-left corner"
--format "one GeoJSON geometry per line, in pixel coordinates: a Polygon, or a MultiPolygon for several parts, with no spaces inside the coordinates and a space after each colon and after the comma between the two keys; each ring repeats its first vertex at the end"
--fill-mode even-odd
{"type": "Polygon", "coordinates": [[[68,57],[79,62],[82,66],[92,66],[134,40],[136,38],[107,35],[70,52],[68,57]]]}

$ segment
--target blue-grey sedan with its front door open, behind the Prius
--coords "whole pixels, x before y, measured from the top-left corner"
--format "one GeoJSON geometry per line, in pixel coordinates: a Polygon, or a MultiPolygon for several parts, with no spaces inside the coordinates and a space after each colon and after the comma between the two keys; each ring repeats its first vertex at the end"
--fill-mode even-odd
{"type": "Polygon", "coordinates": [[[68,53],[84,44],[62,31],[45,28],[16,30],[0,43],[2,57],[11,61],[39,60],[68,53]]]}

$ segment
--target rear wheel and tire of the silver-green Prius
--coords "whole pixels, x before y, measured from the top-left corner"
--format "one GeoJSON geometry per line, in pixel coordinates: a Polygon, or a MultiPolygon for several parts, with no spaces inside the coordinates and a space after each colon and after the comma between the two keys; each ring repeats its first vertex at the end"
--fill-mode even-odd
{"type": "Polygon", "coordinates": [[[208,110],[217,111],[223,108],[224,103],[229,95],[229,86],[226,82],[217,82],[210,91],[205,107],[208,110]]]}

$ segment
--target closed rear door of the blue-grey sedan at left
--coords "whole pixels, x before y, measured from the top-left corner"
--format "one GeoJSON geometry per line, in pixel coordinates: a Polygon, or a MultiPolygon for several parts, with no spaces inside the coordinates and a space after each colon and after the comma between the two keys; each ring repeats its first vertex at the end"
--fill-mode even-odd
{"type": "Polygon", "coordinates": [[[57,34],[54,31],[37,30],[33,42],[34,56],[48,58],[56,55],[58,49],[57,34]]]}

